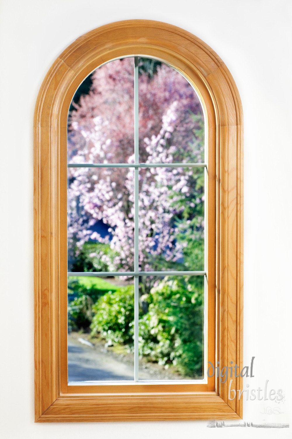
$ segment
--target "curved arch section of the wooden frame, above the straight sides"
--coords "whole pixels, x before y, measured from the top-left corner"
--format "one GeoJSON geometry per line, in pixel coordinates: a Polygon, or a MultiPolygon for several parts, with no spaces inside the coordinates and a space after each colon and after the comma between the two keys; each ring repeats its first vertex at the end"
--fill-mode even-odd
{"type": "Polygon", "coordinates": [[[208,95],[211,97],[220,126],[243,125],[237,87],[214,50],[176,26],[151,20],[128,20],[94,29],[60,54],[42,83],[35,108],[35,126],[49,126],[49,119],[56,116],[60,117],[63,127],[67,126],[70,103],[79,84],[99,65],[133,55],[163,60],[182,72],[196,87],[203,102],[208,101],[208,95]],[[51,87],[58,92],[49,93],[51,87]]]}

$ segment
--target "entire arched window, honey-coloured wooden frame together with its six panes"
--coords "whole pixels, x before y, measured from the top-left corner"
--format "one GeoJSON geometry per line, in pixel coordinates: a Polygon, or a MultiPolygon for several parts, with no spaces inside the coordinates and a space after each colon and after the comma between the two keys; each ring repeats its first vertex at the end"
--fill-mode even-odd
{"type": "MultiPolygon", "coordinates": [[[[242,367],[242,153],[232,77],[188,32],[157,22],[114,23],[76,40],[56,60],[35,111],[36,420],[108,420],[106,406],[121,420],[242,415],[242,400],[228,398],[242,378],[220,382],[207,374],[208,362],[242,367]],[[94,70],[90,93],[72,106],[94,70]],[[132,378],[70,378],[70,367],[68,376],[67,260],[71,293],[84,277],[118,279],[114,294],[94,297],[91,329],[102,332],[102,307],[113,310],[115,297],[127,298],[133,327],[107,326],[104,336],[108,344],[120,337],[130,346],[132,378]],[[199,333],[178,328],[184,309],[199,333]],[[175,379],[139,378],[150,345],[158,362],[179,364],[175,379]],[[95,408],[82,398],[88,393],[95,408]],[[116,397],[123,406],[115,406],[116,397]],[[178,410],[169,410],[170,401],[178,410]]],[[[112,317],[125,320],[126,311],[112,317]]]]}

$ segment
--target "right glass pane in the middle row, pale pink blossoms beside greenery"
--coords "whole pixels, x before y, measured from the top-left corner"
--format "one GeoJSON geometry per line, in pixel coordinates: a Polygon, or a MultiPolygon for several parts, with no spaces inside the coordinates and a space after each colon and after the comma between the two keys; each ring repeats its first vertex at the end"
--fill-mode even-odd
{"type": "Polygon", "coordinates": [[[204,172],[139,169],[140,271],[204,271],[204,172]]]}

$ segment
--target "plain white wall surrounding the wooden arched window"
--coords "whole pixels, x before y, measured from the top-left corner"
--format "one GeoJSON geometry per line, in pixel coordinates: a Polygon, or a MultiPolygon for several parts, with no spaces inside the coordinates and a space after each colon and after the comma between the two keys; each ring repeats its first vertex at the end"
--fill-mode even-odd
{"type": "Polygon", "coordinates": [[[268,379],[269,388],[285,394],[284,403],[245,402],[244,421],[288,422],[291,1],[2,0],[1,9],[2,437],[288,437],[288,429],[211,429],[204,421],[34,424],[32,126],[35,100],[50,65],[73,40],[100,25],[130,18],[168,22],[197,35],[220,55],[238,86],[245,118],[244,364],[255,356],[255,377],[245,384],[263,388],[268,379]],[[269,406],[283,413],[260,413],[269,406]]]}

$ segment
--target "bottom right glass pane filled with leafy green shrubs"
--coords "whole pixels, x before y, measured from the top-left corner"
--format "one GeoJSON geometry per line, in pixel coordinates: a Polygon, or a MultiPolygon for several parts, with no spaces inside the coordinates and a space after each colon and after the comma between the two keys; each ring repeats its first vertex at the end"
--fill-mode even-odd
{"type": "Polygon", "coordinates": [[[204,377],[204,276],[139,281],[139,378],[204,377]]]}

